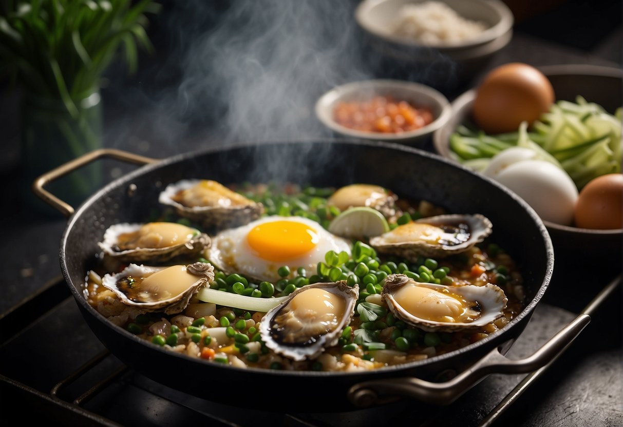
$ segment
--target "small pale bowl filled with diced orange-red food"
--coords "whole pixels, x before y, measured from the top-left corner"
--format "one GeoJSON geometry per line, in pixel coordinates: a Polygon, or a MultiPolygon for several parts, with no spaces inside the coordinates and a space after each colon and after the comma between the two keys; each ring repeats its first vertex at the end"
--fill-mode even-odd
{"type": "Polygon", "coordinates": [[[404,80],[363,80],[327,91],[315,105],[318,120],[340,136],[416,144],[431,138],[451,114],[439,91],[404,80]]]}

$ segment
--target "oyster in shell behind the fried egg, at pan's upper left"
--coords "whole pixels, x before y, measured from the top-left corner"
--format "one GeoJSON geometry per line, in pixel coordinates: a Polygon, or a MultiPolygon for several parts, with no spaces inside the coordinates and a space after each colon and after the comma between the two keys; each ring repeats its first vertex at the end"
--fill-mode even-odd
{"type": "Polygon", "coordinates": [[[244,225],[264,212],[261,203],[206,179],[183,179],[169,184],[160,193],[158,201],[173,206],[179,215],[206,228],[244,225]]]}

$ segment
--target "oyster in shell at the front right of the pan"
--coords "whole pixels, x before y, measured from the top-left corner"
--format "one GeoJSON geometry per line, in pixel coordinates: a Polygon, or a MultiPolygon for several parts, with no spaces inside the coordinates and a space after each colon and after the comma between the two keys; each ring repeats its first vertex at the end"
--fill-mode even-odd
{"type": "Polygon", "coordinates": [[[389,275],[381,298],[394,316],[429,332],[485,326],[503,315],[508,302],[504,291],[492,283],[444,286],[406,275],[389,275]]]}

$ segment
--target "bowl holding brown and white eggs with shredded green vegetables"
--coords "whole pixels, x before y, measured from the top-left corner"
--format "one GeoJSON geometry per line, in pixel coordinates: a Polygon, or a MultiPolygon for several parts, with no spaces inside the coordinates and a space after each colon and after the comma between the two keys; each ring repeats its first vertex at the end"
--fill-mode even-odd
{"type": "Polygon", "coordinates": [[[528,202],[556,255],[620,263],[622,82],[619,68],[500,65],[452,102],[435,150],[528,202]]]}

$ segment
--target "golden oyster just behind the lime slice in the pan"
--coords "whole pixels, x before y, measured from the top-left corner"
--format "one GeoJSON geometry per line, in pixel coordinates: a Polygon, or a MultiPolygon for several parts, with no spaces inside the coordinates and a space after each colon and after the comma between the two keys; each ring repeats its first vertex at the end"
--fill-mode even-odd
{"type": "Polygon", "coordinates": [[[396,214],[396,199],[396,195],[379,185],[351,184],[336,190],[327,202],[342,211],[350,207],[368,206],[389,218],[396,214]]]}

